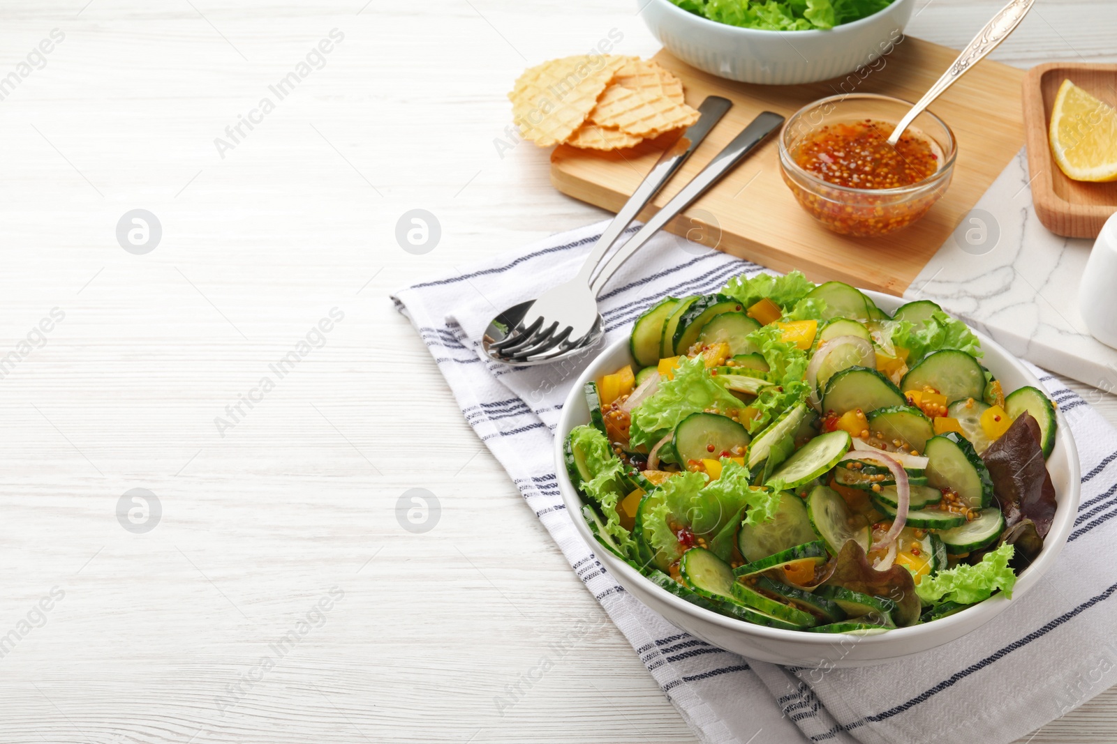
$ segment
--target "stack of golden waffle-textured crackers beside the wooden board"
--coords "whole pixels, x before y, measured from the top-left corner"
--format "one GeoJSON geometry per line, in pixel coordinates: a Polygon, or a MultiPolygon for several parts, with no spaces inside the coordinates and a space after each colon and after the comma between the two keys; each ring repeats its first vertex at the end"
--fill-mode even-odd
{"type": "Polygon", "coordinates": [[[679,79],[638,57],[552,59],[521,75],[508,98],[521,133],[542,147],[632,147],[698,120],[679,79]]]}

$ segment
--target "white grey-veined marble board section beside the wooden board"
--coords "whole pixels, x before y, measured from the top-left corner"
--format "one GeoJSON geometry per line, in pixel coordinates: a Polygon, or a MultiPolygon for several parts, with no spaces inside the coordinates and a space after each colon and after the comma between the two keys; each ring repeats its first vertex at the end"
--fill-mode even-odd
{"type": "Polygon", "coordinates": [[[1021,149],[905,297],[934,300],[1013,354],[1113,393],[1117,349],[1090,336],[1078,311],[1094,242],[1049,232],[1029,180],[1021,149]]]}

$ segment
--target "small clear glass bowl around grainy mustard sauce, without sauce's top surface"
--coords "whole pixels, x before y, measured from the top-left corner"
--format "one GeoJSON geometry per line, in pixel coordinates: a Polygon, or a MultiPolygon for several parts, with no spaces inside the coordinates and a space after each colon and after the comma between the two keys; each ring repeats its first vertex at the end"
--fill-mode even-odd
{"type": "MultiPolygon", "coordinates": [[[[923,218],[951,185],[957,156],[954,133],[930,112],[916,117],[905,136],[911,134],[927,141],[938,156],[938,167],[909,186],[855,189],[837,185],[804,170],[796,161],[806,143],[836,124],[869,119],[895,127],[911,106],[907,100],[890,96],[849,94],[817,100],[787,119],[780,133],[780,171],[800,206],[830,230],[858,238],[885,235],[923,218]]],[[[889,129],[884,134],[890,133],[889,129]]]]}

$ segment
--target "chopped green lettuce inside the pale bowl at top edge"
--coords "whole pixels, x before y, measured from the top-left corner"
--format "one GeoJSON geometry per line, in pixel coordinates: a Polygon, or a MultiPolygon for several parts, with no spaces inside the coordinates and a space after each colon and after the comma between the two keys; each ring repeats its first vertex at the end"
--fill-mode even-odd
{"type": "Polygon", "coordinates": [[[762,31],[812,31],[861,20],[892,0],[671,0],[712,21],[762,31]]]}

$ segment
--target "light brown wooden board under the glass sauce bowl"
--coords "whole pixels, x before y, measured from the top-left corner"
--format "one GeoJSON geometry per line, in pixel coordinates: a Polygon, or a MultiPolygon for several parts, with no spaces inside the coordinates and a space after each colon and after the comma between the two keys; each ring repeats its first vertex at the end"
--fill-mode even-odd
{"type": "MultiPolygon", "coordinates": [[[[762,110],[791,116],[812,100],[853,91],[918,100],[957,54],[906,37],[885,66],[863,80],[851,74],[810,85],[763,86],[715,77],[660,51],[656,61],[682,80],[688,104],[698,106],[706,96],[717,95],[734,106],[641,219],[655,214],[762,110]]],[[[903,294],[1023,146],[1023,75],[986,59],[932,105],[958,142],[954,182],[932,211],[906,230],[882,238],[846,238],[818,224],[783,183],[775,136],[667,229],[777,271],[799,269],[815,281],[833,279],[903,294]]],[[[560,145],[551,155],[551,181],[565,194],[615,212],[660,152],[655,142],[614,153],[560,145]]]]}

